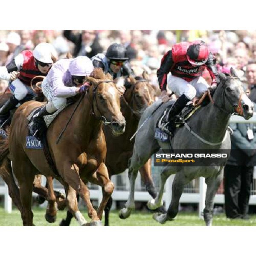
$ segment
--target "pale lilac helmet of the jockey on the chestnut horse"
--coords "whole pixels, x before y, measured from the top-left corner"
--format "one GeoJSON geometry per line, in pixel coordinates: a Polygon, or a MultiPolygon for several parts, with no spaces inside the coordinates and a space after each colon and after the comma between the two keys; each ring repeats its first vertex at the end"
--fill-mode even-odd
{"type": "Polygon", "coordinates": [[[86,56],[79,56],[73,59],[69,65],[71,76],[90,76],[93,72],[93,62],[86,56]]]}

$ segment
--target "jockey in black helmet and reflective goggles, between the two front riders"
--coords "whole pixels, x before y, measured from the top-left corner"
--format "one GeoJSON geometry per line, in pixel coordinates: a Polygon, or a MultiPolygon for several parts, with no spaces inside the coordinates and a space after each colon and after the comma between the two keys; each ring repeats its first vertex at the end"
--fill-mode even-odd
{"type": "Polygon", "coordinates": [[[99,53],[92,58],[92,61],[94,67],[100,67],[105,73],[110,73],[113,79],[121,76],[134,76],[134,71],[122,44],[111,44],[106,54],[99,53]]]}

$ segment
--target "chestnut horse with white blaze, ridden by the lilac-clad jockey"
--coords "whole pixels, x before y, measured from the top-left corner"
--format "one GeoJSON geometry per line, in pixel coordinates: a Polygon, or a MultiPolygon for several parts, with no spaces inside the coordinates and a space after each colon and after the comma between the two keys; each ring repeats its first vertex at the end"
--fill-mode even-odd
{"type": "Polygon", "coordinates": [[[39,170],[41,174],[55,177],[64,185],[68,207],[79,224],[86,224],[86,221],[78,209],[76,192],[87,205],[88,216],[92,220],[90,224],[101,224],[102,212],[113,192],[113,183],[105,166],[106,143],[102,124],[105,122],[111,125],[113,134],[120,135],[125,130],[125,120],[120,111],[120,93],[111,76],[96,69],[88,81],[92,86],[81,96],[83,98],[79,100],[81,103],[67,126],[65,136],[58,144],[55,143],[76,104],[65,108],[47,131],[49,150],[60,176],[55,175],[49,167],[43,151],[25,148],[28,135],[26,117],[43,104],[26,102],[13,116],[9,141],[6,143],[8,147],[2,151],[0,159],[10,152],[13,172],[20,185],[23,225],[33,224],[32,188],[39,170]],[[90,202],[89,190],[85,185],[87,181],[102,186],[103,198],[97,211],[90,202]]]}

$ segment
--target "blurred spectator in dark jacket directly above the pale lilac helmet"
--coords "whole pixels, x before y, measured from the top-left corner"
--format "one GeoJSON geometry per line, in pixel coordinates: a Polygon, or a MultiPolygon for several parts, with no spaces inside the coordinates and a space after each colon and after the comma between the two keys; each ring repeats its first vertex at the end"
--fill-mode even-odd
{"type": "Polygon", "coordinates": [[[75,44],[74,57],[87,56],[92,58],[103,51],[95,30],[82,30],[78,34],[75,34],[73,30],[64,30],[63,35],[67,40],[75,44]]]}

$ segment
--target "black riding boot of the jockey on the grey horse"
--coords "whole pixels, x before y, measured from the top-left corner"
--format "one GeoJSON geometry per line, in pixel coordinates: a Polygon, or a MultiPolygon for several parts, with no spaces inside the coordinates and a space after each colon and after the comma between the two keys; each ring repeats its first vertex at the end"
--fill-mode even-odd
{"type": "Polygon", "coordinates": [[[175,116],[180,113],[180,111],[186,106],[190,101],[184,94],[181,95],[176,102],[169,108],[166,108],[163,116],[159,121],[159,128],[166,132],[169,135],[172,135],[174,132],[174,121],[175,116]]]}

